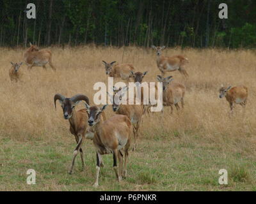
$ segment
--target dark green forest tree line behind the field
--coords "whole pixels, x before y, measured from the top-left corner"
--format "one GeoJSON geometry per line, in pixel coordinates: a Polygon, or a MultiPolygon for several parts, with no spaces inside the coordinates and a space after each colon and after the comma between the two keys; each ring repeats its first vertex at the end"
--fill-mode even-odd
{"type": "Polygon", "coordinates": [[[1,0],[0,46],[255,48],[255,0],[1,0]],[[26,17],[28,3],[36,18],[26,17]],[[228,6],[220,19],[219,4],[228,6]]]}

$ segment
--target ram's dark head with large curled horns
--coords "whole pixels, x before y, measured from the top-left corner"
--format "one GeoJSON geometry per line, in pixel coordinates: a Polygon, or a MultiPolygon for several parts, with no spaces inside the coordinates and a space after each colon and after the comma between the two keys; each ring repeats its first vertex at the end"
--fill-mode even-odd
{"type": "Polygon", "coordinates": [[[70,119],[72,117],[73,110],[75,106],[80,101],[86,101],[86,103],[89,103],[89,98],[87,96],[84,96],[82,94],[77,94],[76,96],[73,96],[72,98],[65,98],[65,96],[62,96],[61,94],[56,94],[54,96],[54,105],[56,109],[56,101],[59,100],[62,110],[63,110],[63,117],[64,119],[70,119]]]}

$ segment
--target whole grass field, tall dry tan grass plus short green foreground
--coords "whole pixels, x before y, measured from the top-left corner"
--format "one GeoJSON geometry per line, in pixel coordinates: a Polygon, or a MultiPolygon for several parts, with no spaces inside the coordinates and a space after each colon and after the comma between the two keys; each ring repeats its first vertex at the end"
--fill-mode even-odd
{"type": "MultiPolygon", "coordinates": [[[[152,48],[77,47],[50,48],[57,71],[22,65],[22,82],[8,76],[10,61],[23,61],[24,50],[0,49],[0,191],[95,191],[95,149],[83,145],[86,170],[77,156],[68,175],[76,147],[61,106],[54,109],[56,93],[71,97],[85,94],[93,101],[93,84],[107,82],[102,60],[129,62],[148,71],[147,82],[157,82],[159,69],[152,48]],[[36,185],[26,184],[26,171],[36,171],[36,185]]],[[[111,155],[103,156],[97,191],[256,191],[256,56],[252,50],[195,50],[168,48],[164,55],[183,54],[189,59],[185,80],[185,108],[179,113],[145,115],[138,148],[131,152],[127,179],[118,183],[111,155]],[[224,85],[246,85],[248,104],[230,117],[224,85]],[[220,169],[228,171],[228,185],[218,184],[220,169]]],[[[166,75],[166,77],[168,76],[166,75]]],[[[83,108],[78,105],[76,109],[83,108]]],[[[108,117],[113,115],[108,106],[108,117]]]]}

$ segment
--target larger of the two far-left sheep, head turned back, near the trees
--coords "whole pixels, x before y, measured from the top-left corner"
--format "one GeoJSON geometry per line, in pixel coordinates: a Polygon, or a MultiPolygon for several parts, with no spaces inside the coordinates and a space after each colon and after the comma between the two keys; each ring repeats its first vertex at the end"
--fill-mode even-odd
{"type": "Polygon", "coordinates": [[[39,50],[36,45],[30,43],[30,47],[24,54],[24,60],[28,66],[28,70],[31,70],[33,66],[42,66],[46,69],[46,64],[49,63],[51,68],[56,71],[56,68],[52,64],[52,53],[50,50],[39,50]]]}

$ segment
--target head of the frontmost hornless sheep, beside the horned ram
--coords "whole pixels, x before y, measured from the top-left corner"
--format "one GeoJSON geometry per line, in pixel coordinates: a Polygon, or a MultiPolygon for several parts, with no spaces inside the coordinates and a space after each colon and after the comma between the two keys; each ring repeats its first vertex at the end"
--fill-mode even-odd
{"type": "Polygon", "coordinates": [[[100,121],[100,114],[106,109],[108,105],[104,105],[101,108],[97,106],[90,106],[88,103],[84,103],[86,112],[88,113],[88,125],[95,126],[100,121]]]}

